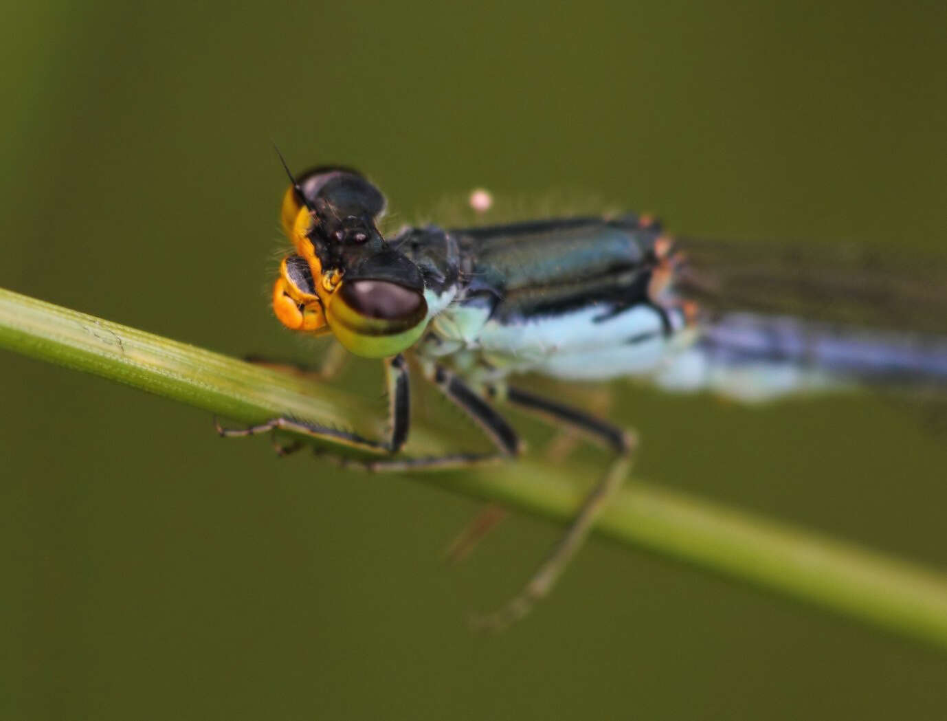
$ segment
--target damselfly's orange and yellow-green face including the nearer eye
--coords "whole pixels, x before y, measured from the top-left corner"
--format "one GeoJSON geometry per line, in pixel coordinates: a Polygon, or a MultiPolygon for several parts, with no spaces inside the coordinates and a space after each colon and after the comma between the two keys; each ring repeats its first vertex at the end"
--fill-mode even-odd
{"type": "Polygon", "coordinates": [[[427,325],[427,302],[417,282],[347,279],[338,269],[324,270],[310,239],[312,214],[292,187],[281,219],[298,254],[283,261],[274,288],[274,310],[283,325],[303,333],[331,330],[348,351],[366,358],[384,358],[414,345],[427,325]],[[299,273],[303,261],[307,275],[299,273]]]}

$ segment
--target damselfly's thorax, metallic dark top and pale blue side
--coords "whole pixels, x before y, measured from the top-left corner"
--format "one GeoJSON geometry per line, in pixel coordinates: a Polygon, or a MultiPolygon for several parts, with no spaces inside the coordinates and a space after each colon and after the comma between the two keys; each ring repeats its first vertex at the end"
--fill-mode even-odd
{"type": "Polygon", "coordinates": [[[408,231],[393,244],[419,265],[430,309],[417,351],[492,379],[660,370],[692,333],[670,290],[654,291],[659,237],[634,216],[408,231]]]}

